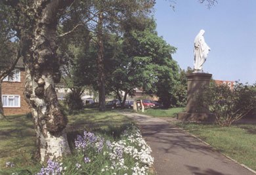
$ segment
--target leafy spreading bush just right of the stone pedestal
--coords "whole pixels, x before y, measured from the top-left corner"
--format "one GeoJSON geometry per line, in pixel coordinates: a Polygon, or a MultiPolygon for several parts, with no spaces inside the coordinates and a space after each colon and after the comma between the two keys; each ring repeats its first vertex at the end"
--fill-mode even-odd
{"type": "Polygon", "coordinates": [[[219,125],[230,126],[256,108],[256,90],[255,86],[242,83],[237,83],[234,90],[211,83],[199,100],[202,107],[209,106],[219,125]]]}

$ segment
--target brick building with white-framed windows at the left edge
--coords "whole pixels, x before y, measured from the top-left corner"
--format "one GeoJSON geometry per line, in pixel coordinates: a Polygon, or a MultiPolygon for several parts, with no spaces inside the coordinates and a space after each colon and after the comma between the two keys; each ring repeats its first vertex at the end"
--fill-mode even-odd
{"type": "Polygon", "coordinates": [[[30,112],[23,92],[25,71],[22,60],[16,64],[12,76],[7,76],[2,83],[2,102],[5,115],[18,115],[30,112]]]}

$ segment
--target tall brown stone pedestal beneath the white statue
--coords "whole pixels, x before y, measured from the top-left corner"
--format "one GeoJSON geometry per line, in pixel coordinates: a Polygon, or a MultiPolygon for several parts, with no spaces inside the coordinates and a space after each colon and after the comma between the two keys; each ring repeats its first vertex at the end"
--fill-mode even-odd
{"type": "Polygon", "coordinates": [[[209,121],[213,115],[209,114],[209,109],[199,106],[198,96],[202,95],[203,87],[209,86],[212,74],[209,73],[189,73],[188,96],[185,112],[179,113],[178,119],[182,121],[209,121]]]}

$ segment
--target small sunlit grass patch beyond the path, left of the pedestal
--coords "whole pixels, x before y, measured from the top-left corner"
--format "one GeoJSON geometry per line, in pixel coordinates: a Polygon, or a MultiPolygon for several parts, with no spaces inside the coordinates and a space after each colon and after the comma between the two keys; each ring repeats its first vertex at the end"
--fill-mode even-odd
{"type": "Polygon", "coordinates": [[[144,114],[152,117],[177,117],[177,114],[182,111],[184,111],[184,107],[172,107],[169,109],[151,108],[145,109],[144,114]]]}

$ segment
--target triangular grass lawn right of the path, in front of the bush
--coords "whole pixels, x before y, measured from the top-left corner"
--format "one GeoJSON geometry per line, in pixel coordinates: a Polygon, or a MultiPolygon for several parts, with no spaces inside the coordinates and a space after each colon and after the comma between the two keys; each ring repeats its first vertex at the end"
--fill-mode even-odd
{"type": "Polygon", "coordinates": [[[196,123],[177,123],[177,125],[209,143],[224,155],[256,170],[256,125],[229,127],[196,123]]]}

